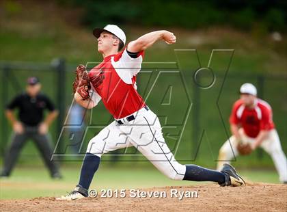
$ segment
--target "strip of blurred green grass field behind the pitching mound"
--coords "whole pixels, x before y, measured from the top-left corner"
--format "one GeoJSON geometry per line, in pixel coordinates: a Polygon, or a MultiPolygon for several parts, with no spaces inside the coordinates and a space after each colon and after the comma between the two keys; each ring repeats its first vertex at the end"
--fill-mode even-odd
{"type": "MultiPolygon", "coordinates": [[[[16,168],[10,178],[0,179],[0,199],[59,196],[71,191],[78,183],[81,165],[62,168],[64,178],[53,180],[44,167],[16,168]]],[[[248,181],[279,183],[275,170],[239,170],[248,181]]],[[[94,177],[91,189],[131,189],[195,185],[197,182],[172,181],[155,168],[122,168],[102,164],[94,177]]]]}

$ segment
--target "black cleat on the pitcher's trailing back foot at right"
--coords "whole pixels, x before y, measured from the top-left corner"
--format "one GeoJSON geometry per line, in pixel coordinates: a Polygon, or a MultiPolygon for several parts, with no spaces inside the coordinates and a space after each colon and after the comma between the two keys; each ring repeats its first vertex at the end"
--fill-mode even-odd
{"type": "Polygon", "coordinates": [[[228,163],[223,164],[223,168],[220,171],[226,175],[226,182],[219,184],[221,186],[245,186],[245,181],[239,176],[232,165],[228,163]]]}

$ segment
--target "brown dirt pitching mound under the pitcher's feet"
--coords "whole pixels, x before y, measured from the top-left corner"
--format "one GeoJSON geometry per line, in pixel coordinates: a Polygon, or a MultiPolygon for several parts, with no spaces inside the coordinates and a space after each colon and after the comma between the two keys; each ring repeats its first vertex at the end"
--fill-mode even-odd
{"type": "Polygon", "coordinates": [[[51,197],[0,200],[0,211],[287,211],[287,185],[279,184],[154,187],[126,190],[122,194],[119,190],[118,195],[113,191],[111,198],[101,195],[105,196],[99,192],[96,198],[70,202],[51,197]]]}

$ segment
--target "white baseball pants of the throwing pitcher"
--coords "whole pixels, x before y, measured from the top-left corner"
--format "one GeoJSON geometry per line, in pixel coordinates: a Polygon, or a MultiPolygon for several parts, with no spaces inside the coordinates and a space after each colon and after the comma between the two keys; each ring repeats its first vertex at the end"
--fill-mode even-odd
{"type": "Polygon", "coordinates": [[[182,180],[186,167],[174,159],[169,150],[163,133],[159,118],[151,110],[140,109],[135,114],[135,120],[124,122],[124,124],[111,122],[102,129],[98,135],[90,140],[87,146],[87,153],[101,157],[120,148],[135,146],[159,171],[165,176],[182,180]]]}

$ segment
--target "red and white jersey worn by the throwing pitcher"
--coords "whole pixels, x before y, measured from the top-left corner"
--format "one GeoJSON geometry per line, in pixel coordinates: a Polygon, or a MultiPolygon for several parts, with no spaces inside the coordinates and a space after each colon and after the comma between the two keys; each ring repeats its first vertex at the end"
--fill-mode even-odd
{"type": "Polygon", "coordinates": [[[92,100],[100,99],[115,119],[124,118],[146,105],[137,92],[136,75],[141,69],[144,52],[137,58],[126,52],[109,55],[89,72],[92,85],[92,100]]]}

